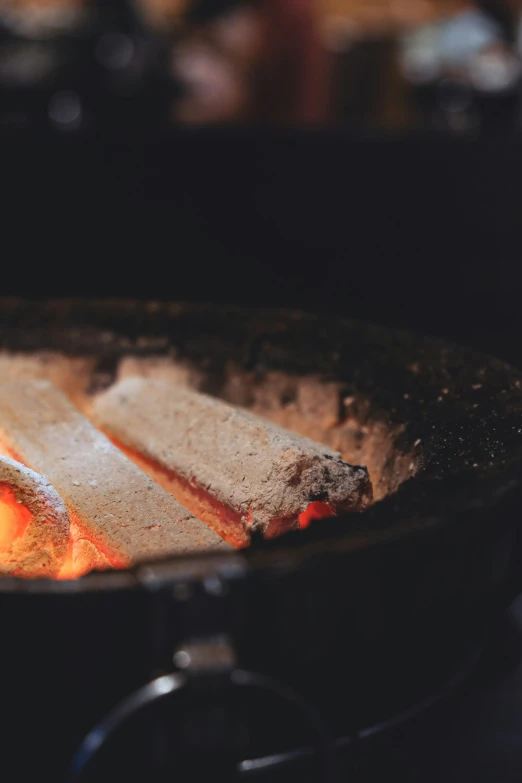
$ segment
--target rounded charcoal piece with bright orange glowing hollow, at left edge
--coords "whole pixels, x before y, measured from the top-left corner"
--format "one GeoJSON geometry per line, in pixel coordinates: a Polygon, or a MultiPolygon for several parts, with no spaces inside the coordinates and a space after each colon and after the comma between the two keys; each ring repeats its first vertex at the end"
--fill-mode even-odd
{"type": "Polygon", "coordinates": [[[57,576],[69,545],[69,514],[38,473],[0,457],[0,574],[57,576]]]}

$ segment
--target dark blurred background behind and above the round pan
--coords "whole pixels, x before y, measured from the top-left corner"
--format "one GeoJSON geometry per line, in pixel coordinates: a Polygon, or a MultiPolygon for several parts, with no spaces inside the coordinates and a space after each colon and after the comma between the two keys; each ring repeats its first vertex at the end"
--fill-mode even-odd
{"type": "Polygon", "coordinates": [[[522,366],[521,13],[3,0],[1,293],[322,310],[522,366]]]}

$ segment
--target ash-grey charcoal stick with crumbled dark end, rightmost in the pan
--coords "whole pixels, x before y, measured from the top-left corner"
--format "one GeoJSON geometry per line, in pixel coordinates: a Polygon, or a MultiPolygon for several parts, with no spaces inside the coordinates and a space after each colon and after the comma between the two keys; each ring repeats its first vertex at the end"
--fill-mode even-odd
{"type": "Polygon", "coordinates": [[[95,423],[143,470],[234,546],[311,518],[361,510],[366,468],[246,410],[143,378],[93,403],[95,423]]]}

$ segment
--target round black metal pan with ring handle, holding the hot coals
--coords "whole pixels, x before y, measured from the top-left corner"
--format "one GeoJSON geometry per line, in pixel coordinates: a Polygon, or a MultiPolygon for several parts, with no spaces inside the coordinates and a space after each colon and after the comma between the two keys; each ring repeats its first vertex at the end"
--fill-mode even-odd
{"type": "MultiPolygon", "coordinates": [[[[22,779],[37,767],[61,779],[82,738],[122,700],[130,712],[143,706],[153,691],[140,689],[155,677],[171,678],[165,694],[177,690],[172,678],[190,650],[199,664],[183,676],[199,694],[196,674],[230,671],[245,692],[272,693],[254,719],[273,729],[257,753],[288,747],[304,720],[309,741],[327,755],[325,732],[364,731],[450,677],[521,589],[522,375],[512,367],[450,343],[298,312],[124,300],[1,304],[2,349],[95,353],[100,377],[110,378],[125,354],[175,352],[201,371],[204,390],[221,396],[231,364],[256,382],[284,372],[338,383],[342,399],[357,401],[363,427],[391,433],[383,475],[391,481],[411,464],[411,477],[368,512],[232,556],[171,558],[76,582],[3,581],[4,741],[22,779]],[[280,733],[278,699],[300,714],[285,718],[280,733]]],[[[183,744],[176,725],[169,748],[183,744]]],[[[207,729],[200,739],[213,734],[207,729]]],[[[129,736],[131,771],[139,763],[129,747],[154,746],[157,761],[157,732],[146,741],[129,736]]],[[[234,749],[236,760],[246,745],[234,749]]],[[[95,750],[84,748],[78,774],[95,750]]]]}

